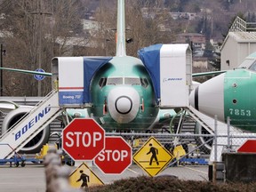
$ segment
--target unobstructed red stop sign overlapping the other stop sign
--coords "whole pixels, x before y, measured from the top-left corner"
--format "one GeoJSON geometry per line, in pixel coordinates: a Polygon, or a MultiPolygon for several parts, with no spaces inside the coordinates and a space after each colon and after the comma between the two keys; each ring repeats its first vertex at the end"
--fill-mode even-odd
{"type": "Polygon", "coordinates": [[[62,148],[74,160],[92,160],[105,148],[105,130],[92,118],[76,118],[62,131],[62,148]]]}

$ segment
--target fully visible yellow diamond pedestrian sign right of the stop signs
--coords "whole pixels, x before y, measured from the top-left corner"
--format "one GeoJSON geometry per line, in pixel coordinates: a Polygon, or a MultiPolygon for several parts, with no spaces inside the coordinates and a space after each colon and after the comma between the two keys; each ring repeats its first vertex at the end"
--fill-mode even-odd
{"type": "Polygon", "coordinates": [[[133,161],[152,177],[161,172],[172,158],[172,154],[154,137],[133,155],[133,161]]]}

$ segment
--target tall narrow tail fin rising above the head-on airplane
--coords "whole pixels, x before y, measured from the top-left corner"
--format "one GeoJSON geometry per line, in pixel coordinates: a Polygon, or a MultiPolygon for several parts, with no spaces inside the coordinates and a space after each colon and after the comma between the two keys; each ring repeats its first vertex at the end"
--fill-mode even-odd
{"type": "Polygon", "coordinates": [[[124,0],[117,2],[116,56],[126,56],[124,0]]]}

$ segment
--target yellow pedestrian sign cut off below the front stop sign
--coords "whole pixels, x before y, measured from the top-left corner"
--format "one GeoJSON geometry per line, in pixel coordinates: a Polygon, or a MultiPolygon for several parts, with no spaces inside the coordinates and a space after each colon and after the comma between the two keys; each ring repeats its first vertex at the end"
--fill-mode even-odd
{"type": "Polygon", "coordinates": [[[80,164],[69,175],[69,183],[73,188],[83,189],[96,185],[104,185],[103,181],[85,163],[80,164]]]}

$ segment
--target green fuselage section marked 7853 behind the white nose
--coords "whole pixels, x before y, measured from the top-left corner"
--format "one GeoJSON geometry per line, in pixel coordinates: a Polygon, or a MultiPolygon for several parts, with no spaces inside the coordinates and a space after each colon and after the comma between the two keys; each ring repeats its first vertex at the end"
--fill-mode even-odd
{"type": "Polygon", "coordinates": [[[256,131],[256,72],[237,68],[224,77],[225,121],[244,131],[256,131]]]}

